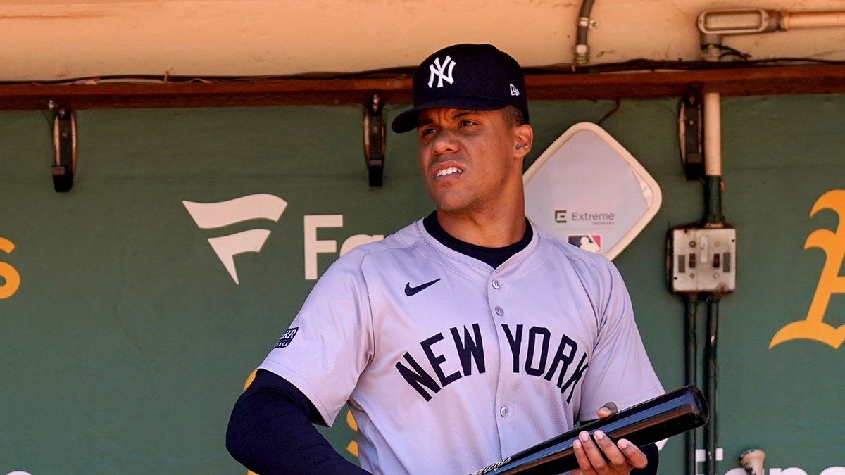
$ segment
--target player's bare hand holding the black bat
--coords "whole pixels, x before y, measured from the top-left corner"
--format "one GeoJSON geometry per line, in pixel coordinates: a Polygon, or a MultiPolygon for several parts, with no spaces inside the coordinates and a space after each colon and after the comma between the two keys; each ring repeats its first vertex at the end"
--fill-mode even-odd
{"type": "MultiPolygon", "coordinates": [[[[608,402],[598,410],[598,418],[604,419],[616,412],[616,404],[608,402]]],[[[616,444],[601,430],[593,437],[586,431],[578,434],[572,445],[580,468],[573,475],[627,475],[635,468],[646,467],[646,454],[629,440],[619,439],[616,444]]]]}

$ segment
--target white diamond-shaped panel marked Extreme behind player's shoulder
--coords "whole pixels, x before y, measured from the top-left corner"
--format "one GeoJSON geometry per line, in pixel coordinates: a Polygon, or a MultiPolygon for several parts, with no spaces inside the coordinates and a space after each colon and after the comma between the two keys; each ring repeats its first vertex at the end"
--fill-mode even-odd
{"type": "Polygon", "coordinates": [[[660,188],[595,123],[576,123],[523,176],[526,215],[537,227],[613,259],[657,214],[660,188]]]}

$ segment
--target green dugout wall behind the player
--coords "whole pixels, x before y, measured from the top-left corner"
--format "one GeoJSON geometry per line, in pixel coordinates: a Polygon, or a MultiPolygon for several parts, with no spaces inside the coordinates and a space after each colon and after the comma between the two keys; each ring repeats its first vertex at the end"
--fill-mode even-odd
{"type": "MultiPolygon", "coordinates": [[[[613,106],[532,103],[530,158],[613,106]]],[[[602,123],[662,188],[662,209],[615,263],[668,389],[684,384],[684,307],[664,283],[665,234],[703,215],[678,109],[626,100],[602,123]]],[[[368,187],[361,118],[357,106],[80,110],[79,174],[57,194],[52,117],[0,112],[0,474],[246,473],[226,453],[226,421],[313,285],[308,256],[322,273],[347,239],[432,209],[413,134],[390,134],[384,187],[368,187]],[[183,205],[250,194],[286,207],[201,228],[183,205]],[[270,233],[235,256],[236,283],[208,239],[254,229],[270,233]]],[[[845,349],[812,330],[770,343],[808,319],[822,276],[813,328],[845,337],[845,199],[829,194],[810,216],[845,189],[845,96],[724,98],[722,140],[738,281],[720,308],[717,472],[760,448],[767,473],[842,475],[845,349]],[[813,232],[820,245],[804,249],[813,232]]],[[[354,459],[352,421],[324,434],[354,459]]],[[[684,438],[661,457],[660,473],[683,473],[684,438]]]]}

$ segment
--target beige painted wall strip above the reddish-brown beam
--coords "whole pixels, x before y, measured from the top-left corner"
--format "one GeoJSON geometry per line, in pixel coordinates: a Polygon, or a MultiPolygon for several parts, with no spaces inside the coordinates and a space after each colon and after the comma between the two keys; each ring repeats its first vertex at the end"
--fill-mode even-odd
{"type": "MultiPolygon", "coordinates": [[[[755,8],[845,8],[839,0],[755,8]]],[[[716,0],[597,0],[591,63],[697,60],[716,0]]],[[[450,43],[491,42],[525,66],[571,63],[581,2],[546,0],[0,0],[0,80],[254,76],[412,66],[450,43]]],[[[845,58],[845,28],[733,36],[753,58],[845,58]]]]}

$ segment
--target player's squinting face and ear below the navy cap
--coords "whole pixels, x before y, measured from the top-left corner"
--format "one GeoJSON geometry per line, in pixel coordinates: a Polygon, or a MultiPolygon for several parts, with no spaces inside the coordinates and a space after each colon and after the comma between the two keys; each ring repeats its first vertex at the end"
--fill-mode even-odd
{"type": "Polygon", "coordinates": [[[499,212],[504,205],[523,213],[528,125],[512,125],[504,110],[462,109],[429,109],[417,124],[423,179],[439,210],[499,212]]]}

